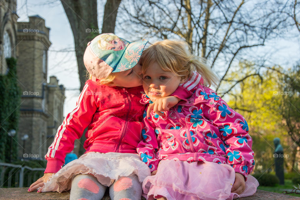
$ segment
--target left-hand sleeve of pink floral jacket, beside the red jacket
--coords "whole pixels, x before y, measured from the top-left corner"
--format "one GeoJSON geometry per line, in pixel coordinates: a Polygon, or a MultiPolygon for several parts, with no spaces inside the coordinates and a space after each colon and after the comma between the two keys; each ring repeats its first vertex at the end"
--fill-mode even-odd
{"type": "Polygon", "coordinates": [[[143,140],[138,143],[137,152],[141,156],[142,161],[148,165],[150,171],[157,170],[158,158],[156,152],[158,151],[158,143],[153,127],[150,125],[148,118],[144,118],[145,126],[142,130],[143,140]]]}

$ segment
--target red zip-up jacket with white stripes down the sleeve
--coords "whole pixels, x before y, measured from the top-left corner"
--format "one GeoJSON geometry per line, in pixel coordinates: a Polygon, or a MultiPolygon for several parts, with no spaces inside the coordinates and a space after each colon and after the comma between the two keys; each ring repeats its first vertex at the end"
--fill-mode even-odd
{"type": "Polygon", "coordinates": [[[67,115],[45,155],[44,173],[56,173],[63,166],[74,140],[85,134],[87,152],[137,153],[141,141],[145,105],[140,103],[143,87],[120,88],[88,80],[76,108],[67,115]]]}

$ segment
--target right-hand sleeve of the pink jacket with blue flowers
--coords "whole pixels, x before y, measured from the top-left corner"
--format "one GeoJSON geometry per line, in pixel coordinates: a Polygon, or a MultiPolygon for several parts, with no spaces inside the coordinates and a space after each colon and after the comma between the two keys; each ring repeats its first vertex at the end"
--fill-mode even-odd
{"type": "Polygon", "coordinates": [[[209,118],[217,125],[225,143],[227,164],[231,165],[235,172],[242,174],[246,181],[247,175],[254,168],[254,152],[245,118],[230,108],[221,98],[211,108],[209,118]]]}

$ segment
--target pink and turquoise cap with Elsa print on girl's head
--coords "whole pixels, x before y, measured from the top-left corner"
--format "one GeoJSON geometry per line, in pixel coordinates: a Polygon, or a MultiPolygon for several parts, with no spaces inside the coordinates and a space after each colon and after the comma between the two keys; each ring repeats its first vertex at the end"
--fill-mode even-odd
{"type": "Polygon", "coordinates": [[[88,43],[83,55],[84,65],[93,78],[107,78],[112,72],[133,68],[147,42],[129,42],[113,33],[103,33],[88,43]]]}

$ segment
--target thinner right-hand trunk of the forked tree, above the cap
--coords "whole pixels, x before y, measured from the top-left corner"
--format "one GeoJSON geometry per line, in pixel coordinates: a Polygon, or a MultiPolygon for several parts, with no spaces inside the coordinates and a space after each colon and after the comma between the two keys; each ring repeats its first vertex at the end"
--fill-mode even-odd
{"type": "Polygon", "coordinates": [[[101,33],[114,33],[118,8],[122,0],[108,0],[104,7],[101,33]]]}

